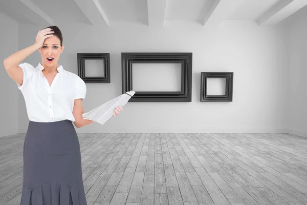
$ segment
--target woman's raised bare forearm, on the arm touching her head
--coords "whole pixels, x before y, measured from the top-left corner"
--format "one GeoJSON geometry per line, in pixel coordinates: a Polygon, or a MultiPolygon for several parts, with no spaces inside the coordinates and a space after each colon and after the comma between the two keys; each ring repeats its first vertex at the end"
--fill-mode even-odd
{"type": "Polygon", "coordinates": [[[21,61],[23,61],[26,57],[28,57],[38,48],[39,48],[38,45],[33,44],[32,46],[29,46],[23,50],[17,51],[16,53],[10,55],[3,62],[5,69],[14,68],[18,66],[21,61]]]}

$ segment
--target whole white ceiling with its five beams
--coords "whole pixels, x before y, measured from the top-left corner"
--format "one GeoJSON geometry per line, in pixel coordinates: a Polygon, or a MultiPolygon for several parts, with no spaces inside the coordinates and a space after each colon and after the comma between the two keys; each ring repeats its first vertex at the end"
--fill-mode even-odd
{"type": "Polygon", "coordinates": [[[164,26],[180,21],[206,26],[227,19],[255,20],[262,26],[278,24],[306,5],[307,0],[0,0],[0,12],[38,26],[164,26]]]}

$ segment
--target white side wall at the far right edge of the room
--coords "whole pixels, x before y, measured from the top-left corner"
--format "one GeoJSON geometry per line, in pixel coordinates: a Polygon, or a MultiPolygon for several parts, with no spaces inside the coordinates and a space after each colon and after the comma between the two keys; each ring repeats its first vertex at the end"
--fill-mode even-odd
{"type": "Polygon", "coordinates": [[[307,137],[307,7],[284,24],[289,35],[287,132],[307,137]]]}

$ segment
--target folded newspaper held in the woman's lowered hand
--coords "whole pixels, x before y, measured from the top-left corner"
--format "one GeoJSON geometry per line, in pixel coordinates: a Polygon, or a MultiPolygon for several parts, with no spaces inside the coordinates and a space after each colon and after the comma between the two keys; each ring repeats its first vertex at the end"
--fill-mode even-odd
{"type": "Polygon", "coordinates": [[[93,110],[83,113],[82,116],[84,119],[90,119],[98,122],[103,125],[108,119],[113,116],[113,111],[118,106],[124,106],[128,103],[128,100],[135,94],[136,92],[131,90],[121,94],[120,96],[107,101],[103,105],[94,108],[93,110]]]}

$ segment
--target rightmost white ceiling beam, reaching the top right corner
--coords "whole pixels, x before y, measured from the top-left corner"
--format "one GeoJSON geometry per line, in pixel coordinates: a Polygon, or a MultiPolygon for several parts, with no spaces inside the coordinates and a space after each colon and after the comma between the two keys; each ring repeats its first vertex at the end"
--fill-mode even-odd
{"type": "Polygon", "coordinates": [[[275,25],[306,5],[307,0],[280,0],[262,14],[256,22],[259,26],[275,25]]]}

